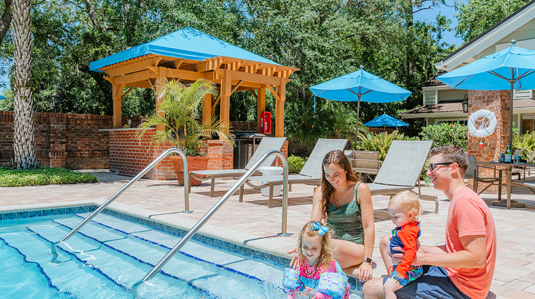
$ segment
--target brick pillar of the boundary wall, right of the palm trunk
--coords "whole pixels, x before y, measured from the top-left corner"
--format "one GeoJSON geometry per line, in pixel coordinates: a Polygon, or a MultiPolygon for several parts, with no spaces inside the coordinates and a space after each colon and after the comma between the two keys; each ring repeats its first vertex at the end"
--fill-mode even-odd
{"type": "Polygon", "coordinates": [[[49,165],[52,168],[65,168],[67,152],[65,151],[65,120],[61,113],[54,113],[50,118],[49,165]]]}

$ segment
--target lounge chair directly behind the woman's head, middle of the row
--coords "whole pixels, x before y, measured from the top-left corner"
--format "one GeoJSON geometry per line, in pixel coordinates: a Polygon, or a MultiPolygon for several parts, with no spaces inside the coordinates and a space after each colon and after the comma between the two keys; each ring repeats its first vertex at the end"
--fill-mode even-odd
{"type": "MultiPolygon", "coordinates": [[[[323,158],[325,155],[335,149],[343,150],[348,143],[347,139],[318,139],[314,146],[307,163],[304,163],[299,175],[288,175],[288,189],[291,191],[292,184],[307,184],[313,186],[321,185],[321,168],[323,158]]],[[[263,175],[258,177],[250,177],[245,184],[255,189],[270,188],[270,199],[267,204],[268,208],[273,206],[273,187],[282,185],[282,175],[263,175]],[[256,184],[252,183],[255,182],[256,184]]],[[[244,186],[240,188],[240,202],[243,202],[244,186]]]]}

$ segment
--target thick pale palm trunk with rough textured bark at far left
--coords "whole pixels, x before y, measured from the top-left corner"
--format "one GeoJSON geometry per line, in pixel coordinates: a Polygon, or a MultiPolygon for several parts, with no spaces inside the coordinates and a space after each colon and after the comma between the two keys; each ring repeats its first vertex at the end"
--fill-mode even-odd
{"type": "Polygon", "coordinates": [[[36,168],[33,99],[31,93],[31,1],[13,0],[14,55],[14,138],[15,163],[18,168],[36,168]]]}

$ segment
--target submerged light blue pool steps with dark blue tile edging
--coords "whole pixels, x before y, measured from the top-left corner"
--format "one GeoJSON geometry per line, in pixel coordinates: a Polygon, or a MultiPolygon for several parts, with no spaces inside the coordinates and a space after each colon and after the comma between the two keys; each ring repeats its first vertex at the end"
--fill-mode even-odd
{"type": "MultiPolygon", "coordinates": [[[[18,238],[20,240],[17,240],[16,243],[38,244],[44,252],[49,252],[49,246],[52,242],[61,238],[80,220],[81,218],[56,219],[53,220],[54,223],[61,225],[56,227],[29,224],[27,227],[33,234],[18,238]],[[40,239],[40,242],[36,242],[36,239],[40,239]]],[[[100,214],[91,221],[90,225],[80,229],[79,234],[74,238],[66,241],[65,243],[68,245],[59,244],[59,260],[75,259],[75,261],[69,261],[59,266],[70,267],[68,272],[61,270],[61,273],[54,274],[54,270],[58,266],[48,264],[49,254],[46,254],[45,257],[29,256],[29,259],[35,259],[45,273],[50,276],[50,280],[54,284],[59,284],[60,290],[70,289],[69,283],[76,281],[71,279],[72,275],[86,275],[82,279],[90,282],[93,281],[95,275],[100,275],[114,282],[110,284],[112,285],[110,292],[115,293],[116,291],[112,290],[116,288],[129,289],[134,282],[140,280],[178,239],[180,237],[163,234],[141,225],[133,223],[125,225],[121,220],[100,214]],[[98,239],[105,241],[100,242],[98,239]],[[84,252],[76,251],[77,248],[83,249],[84,252]],[[65,250],[72,252],[72,254],[67,254],[65,250]],[[128,257],[126,261],[114,257],[116,252],[128,257]],[[121,271],[118,272],[118,268],[132,270],[128,270],[125,275],[121,274],[121,271]],[[65,275],[65,273],[69,274],[65,275]]],[[[266,289],[264,284],[271,284],[275,286],[275,289],[279,289],[274,284],[280,284],[282,275],[281,271],[273,271],[271,266],[262,262],[206,248],[194,242],[187,243],[180,254],[171,259],[162,270],[164,275],[157,275],[154,280],[150,281],[150,284],[169,285],[169,291],[173,291],[173,286],[182,282],[188,284],[189,289],[198,292],[199,298],[203,296],[205,298],[227,298],[224,291],[228,291],[225,286],[229,283],[237,292],[251,291],[261,294],[263,289],[266,289]],[[215,251],[217,254],[214,254],[215,251]],[[204,266],[199,267],[198,264],[204,266]],[[244,280],[249,281],[249,284],[244,284],[244,280]],[[256,290],[251,290],[250,280],[257,281],[257,287],[253,288],[256,290]]],[[[91,292],[91,286],[88,287],[90,289],[84,293],[91,292]]],[[[180,290],[175,291],[180,292],[180,290]]],[[[107,290],[103,292],[106,293],[107,290]]],[[[107,297],[104,296],[104,298],[107,297]]],[[[265,296],[259,298],[265,298],[265,296]]]]}

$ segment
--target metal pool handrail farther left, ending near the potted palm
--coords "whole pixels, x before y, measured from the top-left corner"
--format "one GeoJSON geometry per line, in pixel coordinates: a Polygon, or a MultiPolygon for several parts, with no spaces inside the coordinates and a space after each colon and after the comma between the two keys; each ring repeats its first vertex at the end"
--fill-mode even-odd
{"type": "Polygon", "coordinates": [[[116,200],[116,198],[119,197],[119,195],[121,195],[121,193],[126,191],[127,188],[130,188],[130,186],[132,186],[132,184],[134,184],[137,180],[141,179],[141,177],[143,177],[144,175],[146,175],[147,172],[149,172],[151,169],[153,169],[153,167],[157,163],[160,163],[160,161],[162,161],[167,155],[169,155],[171,153],[178,153],[182,157],[182,160],[183,160],[183,163],[184,163],[184,174],[185,174],[184,175],[184,200],[185,200],[184,209],[185,210],[183,211],[183,213],[191,213],[192,211],[189,211],[189,197],[188,197],[188,193],[187,193],[187,184],[188,184],[189,176],[187,175],[187,159],[186,159],[186,155],[184,154],[183,151],[181,151],[178,148],[167,149],[160,156],[158,156],[153,161],[153,163],[150,163],[144,170],[141,170],[141,172],[139,172],[139,174],[137,176],[135,176],[125,186],[123,186],[123,188],[121,188],[114,195],[109,197],[109,199],[106,202],[104,202],[102,205],[100,205],[100,207],[98,207],[98,209],[93,211],[93,213],[91,213],[91,215],[89,215],[87,218],[82,220],[82,222],[79,223],[75,228],[73,228],[68,234],[63,236],[63,238],[61,238],[61,240],[59,240],[59,241],[57,241],[55,243],[52,243],[52,263],[58,263],[58,260],[57,260],[58,254],[56,253],[56,245],[57,244],[66,241],[73,234],[76,234],[76,232],[78,232],[79,229],[81,229],[84,225],[86,225],[86,223],[88,223],[91,219],[93,219],[93,217],[97,216],[97,214],[100,213],[100,211],[102,211],[109,204],[111,204],[111,202],[116,200]]]}

